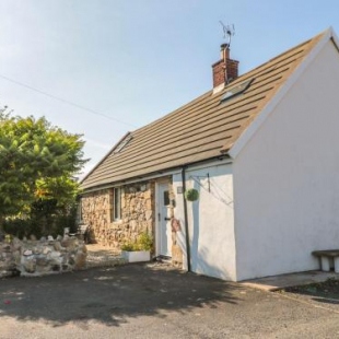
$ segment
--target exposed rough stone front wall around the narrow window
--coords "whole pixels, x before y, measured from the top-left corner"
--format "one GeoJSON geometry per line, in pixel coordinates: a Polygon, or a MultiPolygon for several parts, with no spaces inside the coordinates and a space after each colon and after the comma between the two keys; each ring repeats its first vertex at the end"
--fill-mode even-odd
{"type": "Polygon", "coordinates": [[[97,243],[114,248],[145,231],[154,235],[154,182],[124,186],[121,220],[113,222],[113,189],[85,195],[81,199],[82,222],[91,226],[97,243]]]}

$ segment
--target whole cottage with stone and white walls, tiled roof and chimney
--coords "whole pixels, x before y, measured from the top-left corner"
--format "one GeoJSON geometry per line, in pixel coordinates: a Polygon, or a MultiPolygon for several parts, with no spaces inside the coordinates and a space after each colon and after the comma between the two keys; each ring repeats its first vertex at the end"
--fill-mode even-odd
{"type": "Polygon", "coordinates": [[[239,281],[319,268],[339,247],[339,40],[331,28],[126,135],[82,180],[82,218],[119,247],[239,281]],[[196,189],[196,201],[185,192],[196,189]]]}

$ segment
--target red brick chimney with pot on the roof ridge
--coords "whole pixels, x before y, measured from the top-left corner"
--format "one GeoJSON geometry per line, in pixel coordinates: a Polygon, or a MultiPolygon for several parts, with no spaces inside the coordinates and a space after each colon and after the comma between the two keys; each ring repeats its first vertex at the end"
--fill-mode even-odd
{"type": "Polygon", "coordinates": [[[213,93],[221,91],[225,84],[237,78],[238,61],[230,59],[229,44],[221,46],[221,59],[212,65],[213,69],[213,93]]]}

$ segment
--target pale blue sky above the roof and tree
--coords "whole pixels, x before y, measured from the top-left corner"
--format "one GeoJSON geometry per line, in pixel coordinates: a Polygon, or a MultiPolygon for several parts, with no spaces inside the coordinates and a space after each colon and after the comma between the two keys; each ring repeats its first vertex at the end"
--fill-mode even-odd
{"type": "Polygon", "coordinates": [[[339,1],[326,0],[0,0],[0,105],[84,135],[84,172],[127,131],[211,90],[220,20],[235,25],[241,73],[329,26],[339,34],[339,1]]]}

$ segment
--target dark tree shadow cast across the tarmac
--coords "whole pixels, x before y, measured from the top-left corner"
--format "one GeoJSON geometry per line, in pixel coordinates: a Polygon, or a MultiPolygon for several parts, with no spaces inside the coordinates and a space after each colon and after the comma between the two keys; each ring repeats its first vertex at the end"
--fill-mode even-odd
{"type": "Polygon", "coordinates": [[[237,303],[236,284],[174,270],[163,264],[90,269],[40,278],[0,280],[0,319],[89,320],[119,326],[129,317],[166,317],[195,307],[237,303]],[[234,293],[235,294],[235,293],[234,293]]]}

